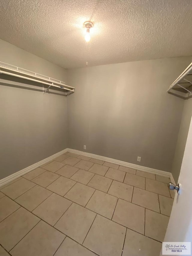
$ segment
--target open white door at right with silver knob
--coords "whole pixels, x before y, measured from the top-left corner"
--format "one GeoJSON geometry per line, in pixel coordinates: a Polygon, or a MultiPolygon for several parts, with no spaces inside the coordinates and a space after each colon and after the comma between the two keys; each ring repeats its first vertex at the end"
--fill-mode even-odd
{"type": "Polygon", "coordinates": [[[192,119],[179,183],[181,184],[180,194],[176,193],[164,242],[191,242],[192,244],[192,119]]]}

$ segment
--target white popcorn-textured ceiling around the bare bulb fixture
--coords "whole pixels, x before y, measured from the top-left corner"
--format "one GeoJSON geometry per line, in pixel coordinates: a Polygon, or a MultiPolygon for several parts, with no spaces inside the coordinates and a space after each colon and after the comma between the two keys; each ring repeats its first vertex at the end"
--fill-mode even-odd
{"type": "Polygon", "coordinates": [[[192,55],[191,0],[1,0],[0,38],[64,68],[192,55]]]}

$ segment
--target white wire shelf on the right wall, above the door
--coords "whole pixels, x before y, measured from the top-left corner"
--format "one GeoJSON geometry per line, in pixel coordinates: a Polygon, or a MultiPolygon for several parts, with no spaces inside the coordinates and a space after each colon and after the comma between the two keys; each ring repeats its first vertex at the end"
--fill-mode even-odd
{"type": "Polygon", "coordinates": [[[192,62],[172,83],[167,92],[184,99],[192,97],[192,62]]]}

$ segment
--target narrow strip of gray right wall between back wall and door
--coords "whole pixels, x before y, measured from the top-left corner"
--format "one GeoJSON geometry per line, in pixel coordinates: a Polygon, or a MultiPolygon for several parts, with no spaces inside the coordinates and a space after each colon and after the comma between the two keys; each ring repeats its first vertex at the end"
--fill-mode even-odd
{"type": "Polygon", "coordinates": [[[185,144],[187,141],[187,135],[188,135],[188,131],[189,131],[191,116],[192,116],[192,98],[190,98],[184,102],[181,126],[179,129],[179,135],[178,135],[175,155],[174,155],[174,159],[173,159],[173,165],[172,165],[171,172],[172,172],[173,178],[176,183],[178,182],[179,173],[181,170],[181,165],[182,165],[182,160],[183,160],[183,155],[184,155],[185,144]]]}

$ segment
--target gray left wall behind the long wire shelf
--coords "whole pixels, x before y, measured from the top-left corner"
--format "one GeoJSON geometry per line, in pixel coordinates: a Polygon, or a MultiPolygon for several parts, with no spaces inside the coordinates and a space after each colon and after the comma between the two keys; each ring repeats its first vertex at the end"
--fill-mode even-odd
{"type": "MultiPolygon", "coordinates": [[[[0,61],[67,78],[63,68],[2,40],[0,61]]],[[[23,80],[10,79],[0,75],[0,179],[67,148],[67,98],[27,90],[23,80]]]]}

